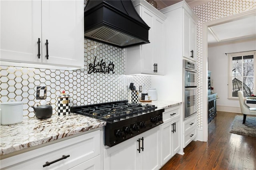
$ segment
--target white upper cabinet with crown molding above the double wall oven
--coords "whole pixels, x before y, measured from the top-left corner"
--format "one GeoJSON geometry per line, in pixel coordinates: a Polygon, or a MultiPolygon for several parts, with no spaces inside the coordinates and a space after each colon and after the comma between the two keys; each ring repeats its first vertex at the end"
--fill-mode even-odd
{"type": "MultiPolygon", "coordinates": [[[[198,18],[185,1],[160,10],[167,16],[167,57],[196,61],[196,23],[198,18]]],[[[175,63],[176,64],[176,63],[175,63]]]]}

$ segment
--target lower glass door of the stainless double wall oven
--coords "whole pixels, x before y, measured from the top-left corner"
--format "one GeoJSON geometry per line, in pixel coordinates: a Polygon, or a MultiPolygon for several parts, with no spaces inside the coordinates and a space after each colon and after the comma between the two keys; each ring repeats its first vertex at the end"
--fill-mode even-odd
{"type": "Polygon", "coordinates": [[[196,113],[196,88],[185,88],[184,119],[196,113]]]}

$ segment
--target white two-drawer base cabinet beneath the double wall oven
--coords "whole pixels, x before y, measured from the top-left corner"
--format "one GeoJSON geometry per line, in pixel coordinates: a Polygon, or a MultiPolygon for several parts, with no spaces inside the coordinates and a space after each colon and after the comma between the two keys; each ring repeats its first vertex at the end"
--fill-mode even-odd
{"type": "Polygon", "coordinates": [[[196,140],[196,136],[196,115],[193,115],[183,122],[183,148],[196,140]]]}

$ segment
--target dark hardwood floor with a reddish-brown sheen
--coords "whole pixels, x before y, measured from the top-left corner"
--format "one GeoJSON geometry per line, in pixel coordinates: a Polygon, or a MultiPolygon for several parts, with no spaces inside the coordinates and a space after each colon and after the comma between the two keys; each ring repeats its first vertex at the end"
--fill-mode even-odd
{"type": "Polygon", "coordinates": [[[192,141],[160,170],[256,170],[256,137],[229,132],[236,115],[218,111],[208,124],[208,142],[192,141]]]}

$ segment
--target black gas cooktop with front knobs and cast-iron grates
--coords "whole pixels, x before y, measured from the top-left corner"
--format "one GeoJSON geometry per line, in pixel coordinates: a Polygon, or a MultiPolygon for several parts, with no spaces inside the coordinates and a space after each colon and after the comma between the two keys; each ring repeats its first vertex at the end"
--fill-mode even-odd
{"type": "Polygon", "coordinates": [[[114,146],[162,123],[164,109],[154,105],[116,101],[71,107],[71,112],[106,121],[104,144],[114,146]]]}

